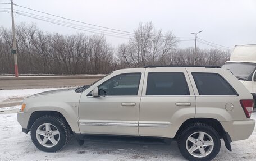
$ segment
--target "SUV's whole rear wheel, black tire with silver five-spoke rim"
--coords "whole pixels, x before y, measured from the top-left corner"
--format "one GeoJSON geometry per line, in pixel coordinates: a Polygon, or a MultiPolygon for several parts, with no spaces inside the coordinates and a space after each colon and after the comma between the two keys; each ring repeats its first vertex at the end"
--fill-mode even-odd
{"type": "Polygon", "coordinates": [[[220,151],[221,141],[213,127],[193,123],[181,131],[178,146],[188,160],[212,160],[220,151]]]}

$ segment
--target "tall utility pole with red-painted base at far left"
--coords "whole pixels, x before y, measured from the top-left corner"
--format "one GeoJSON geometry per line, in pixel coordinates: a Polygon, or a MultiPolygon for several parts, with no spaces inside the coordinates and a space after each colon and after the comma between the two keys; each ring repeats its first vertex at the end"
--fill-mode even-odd
{"type": "Polygon", "coordinates": [[[12,41],[13,41],[12,54],[13,54],[13,57],[14,57],[14,71],[15,71],[15,77],[19,77],[18,60],[17,60],[17,40],[16,40],[16,37],[15,37],[15,24],[14,24],[13,2],[12,2],[12,0],[11,0],[11,13],[12,13],[12,41]]]}

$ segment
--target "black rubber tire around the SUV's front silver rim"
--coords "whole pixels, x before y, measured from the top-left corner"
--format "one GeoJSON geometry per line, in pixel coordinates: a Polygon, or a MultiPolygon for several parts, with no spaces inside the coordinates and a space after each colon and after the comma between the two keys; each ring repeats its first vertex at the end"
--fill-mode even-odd
{"type": "MultiPolygon", "coordinates": [[[[45,128],[46,128],[46,125],[45,125],[45,128]]],[[[69,136],[68,135],[68,127],[66,125],[66,122],[60,117],[50,116],[50,115],[45,115],[45,116],[42,116],[42,117],[36,119],[36,121],[33,123],[32,127],[31,127],[30,135],[31,135],[31,140],[33,141],[36,148],[38,148],[39,150],[45,151],[45,152],[56,152],[58,150],[61,150],[67,144],[68,136],[69,136]],[[37,135],[36,130],[39,127],[42,127],[42,125],[44,123],[51,124],[51,128],[57,128],[57,130],[59,132],[59,134],[57,134],[57,136],[52,136],[52,137],[57,137],[57,140],[58,140],[56,145],[52,145],[53,147],[45,147],[45,145],[44,146],[41,145],[36,137],[36,135],[37,135]]],[[[40,136],[40,135],[38,135],[38,137],[44,138],[44,136],[40,136]]],[[[45,135],[45,137],[46,137],[46,135],[45,135]]],[[[48,141],[50,141],[50,140],[48,140],[48,141]]],[[[48,143],[48,141],[47,141],[47,143],[48,143]]],[[[49,142],[49,144],[52,144],[52,142],[49,142]]]]}

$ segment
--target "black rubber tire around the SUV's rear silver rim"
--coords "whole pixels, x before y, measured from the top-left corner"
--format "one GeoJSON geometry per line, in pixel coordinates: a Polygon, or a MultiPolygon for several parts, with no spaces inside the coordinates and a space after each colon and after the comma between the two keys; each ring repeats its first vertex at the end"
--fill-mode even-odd
{"type": "MultiPolygon", "coordinates": [[[[196,138],[196,139],[198,139],[196,138]]],[[[207,124],[204,123],[193,123],[189,126],[186,126],[181,132],[180,135],[178,136],[177,139],[178,142],[178,146],[180,149],[181,154],[188,160],[212,160],[214,157],[216,157],[216,155],[218,154],[218,152],[220,151],[221,148],[221,141],[220,141],[220,136],[218,135],[218,132],[216,130],[214,130],[214,128],[212,126],[209,126],[207,124]],[[203,140],[208,140],[210,137],[213,141],[213,146],[206,146],[206,145],[202,145],[201,141],[196,141],[198,142],[198,144],[201,145],[197,145],[197,144],[193,144],[192,142],[188,141],[188,147],[189,144],[191,145],[190,148],[192,148],[193,145],[196,145],[196,147],[198,147],[198,149],[196,149],[192,154],[189,153],[189,151],[187,150],[186,144],[187,144],[187,139],[188,137],[191,135],[197,135],[198,134],[198,138],[199,138],[199,134],[200,133],[205,133],[204,135],[204,139],[203,140]],[[208,137],[210,136],[210,137],[208,137]],[[205,148],[204,148],[205,146],[205,148]],[[205,157],[195,157],[193,155],[200,155],[202,153],[200,153],[199,148],[203,148],[204,151],[207,151],[208,155],[206,155],[205,157]]],[[[202,149],[201,149],[202,150],[202,149]]]]}

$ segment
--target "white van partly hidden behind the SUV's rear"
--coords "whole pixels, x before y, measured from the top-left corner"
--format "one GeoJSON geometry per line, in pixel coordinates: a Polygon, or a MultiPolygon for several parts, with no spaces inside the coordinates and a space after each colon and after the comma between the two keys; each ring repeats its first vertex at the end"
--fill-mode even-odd
{"type": "MultiPolygon", "coordinates": [[[[230,61],[222,68],[230,70],[256,100],[256,44],[236,45],[231,53],[230,61]]],[[[255,107],[256,102],[254,102],[255,107]]]]}

